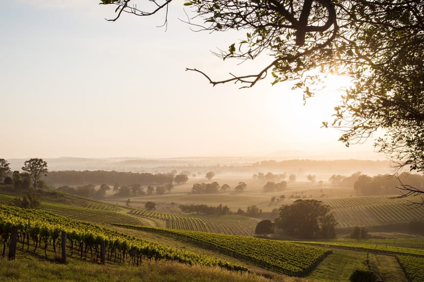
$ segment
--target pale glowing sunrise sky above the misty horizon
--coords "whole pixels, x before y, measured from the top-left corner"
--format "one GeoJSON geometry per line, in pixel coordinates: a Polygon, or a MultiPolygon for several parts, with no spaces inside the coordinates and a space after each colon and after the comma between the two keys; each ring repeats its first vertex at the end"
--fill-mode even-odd
{"type": "Polygon", "coordinates": [[[373,140],[346,148],[332,121],[341,93],[308,99],[295,82],[250,89],[214,79],[257,72],[217,58],[245,31],[193,32],[183,1],[150,18],[98,0],[8,0],[0,10],[0,158],[273,156],[384,159],[373,140]]]}

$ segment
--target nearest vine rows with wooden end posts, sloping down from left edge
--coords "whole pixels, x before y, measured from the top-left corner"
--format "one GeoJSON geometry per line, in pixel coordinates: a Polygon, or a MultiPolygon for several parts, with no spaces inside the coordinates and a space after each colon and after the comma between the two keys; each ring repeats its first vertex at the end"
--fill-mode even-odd
{"type": "MultiPolygon", "coordinates": [[[[66,248],[71,256],[86,259],[99,257],[99,249],[105,246],[107,260],[132,264],[139,264],[142,259],[171,260],[186,264],[200,264],[205,266],[219,266],[228,270],[247,271],[247,268],[223,259],[210,258],[191,252],[175,250],[170,247],[152,243],[133,236],[118,233],[95,224],[72,220],[51,212],[25,210],[16,207],[0,206],[0,235],[4,246],[10,240],[12,226],[18,227],[18,241],[22,249],[31,245],[35,253],[37,247],[44,244],[44,253],[47,258],[47,249],[52,246],[54,256],[56,250],[66,248]],[[61,246],[61,234],[66,232],[69,244],[61,246]],[[32,239],[32,244],[29,239],[32,239]],[[57,247],[57,249],[56,249],[57,247]],[[90,254],[88,254],[90,250],[90,254]],[[94,251],[94,254],[93,254],[94,251]]],[[[3,247],[4,256],[4,247],[3,247]]]]}

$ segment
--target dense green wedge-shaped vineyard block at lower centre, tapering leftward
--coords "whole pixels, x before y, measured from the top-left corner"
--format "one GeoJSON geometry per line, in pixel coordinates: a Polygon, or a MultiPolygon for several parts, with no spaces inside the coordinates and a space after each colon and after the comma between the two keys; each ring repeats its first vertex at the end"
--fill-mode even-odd
{"type": "Polygon", "coordinates": [[[290,276],[302,277],[310,274],[331,254],[331,251],[324,248],[287,241],[144,226],[119,226],[176,237],[290,276]]]}

